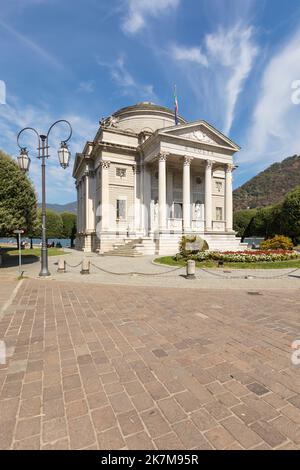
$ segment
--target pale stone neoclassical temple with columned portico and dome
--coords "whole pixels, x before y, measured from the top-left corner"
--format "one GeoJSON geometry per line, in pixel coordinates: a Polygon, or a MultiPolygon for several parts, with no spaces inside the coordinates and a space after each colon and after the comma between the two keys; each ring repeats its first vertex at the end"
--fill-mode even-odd
{"type": "Polygon", "coordinates": [[[76,155],[76,247],[106,253],[130,246],[175,254],[182,234],[210,249],[242,249],[232,228],[233,155],[239,146],[200,120],[139,103],[100,122],[76,155]]]}

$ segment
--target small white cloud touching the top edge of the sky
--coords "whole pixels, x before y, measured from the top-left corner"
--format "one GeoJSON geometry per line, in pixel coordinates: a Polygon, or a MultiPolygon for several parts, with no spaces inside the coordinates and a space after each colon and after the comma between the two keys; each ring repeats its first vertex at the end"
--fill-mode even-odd
{"type": "Polygon", "coordinates": [[[126,0],[127,14],[123,19],[122,29],[126,33],[135,34],[146,25],[148,17],[157,18],[176,9],[179,3],[180,0],[126,0]]]}

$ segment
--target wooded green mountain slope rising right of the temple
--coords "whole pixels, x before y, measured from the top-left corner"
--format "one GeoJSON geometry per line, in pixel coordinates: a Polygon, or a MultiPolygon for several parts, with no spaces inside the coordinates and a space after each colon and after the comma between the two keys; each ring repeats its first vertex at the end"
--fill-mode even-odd
{"type": "Polygon", "coordinates": [[[274,163],[233,191],[234,210],[263,207],[280,202],[300,185],[300,155],[274,163]]]}

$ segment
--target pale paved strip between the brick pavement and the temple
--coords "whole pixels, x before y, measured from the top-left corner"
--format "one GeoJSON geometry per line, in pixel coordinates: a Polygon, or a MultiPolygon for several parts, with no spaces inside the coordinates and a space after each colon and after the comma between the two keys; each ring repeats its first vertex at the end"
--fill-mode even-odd
{"type": "MultiPolygon", "coordinates": [[[[51,280],[101,283],[124,286],[176,287],[196,289],[299,289],[300,269],[196,269],[196,279],[186,280],[186,268],[154,264],[153,256],[128,258],[99,256],[95,253],[66,249],[62,256],[49,257],[51,280]],[[66,272],[58,273],[58,262],[64,259],[66,272]],[[90,274],[81,275],[81,262],[90,262],[90,274]]],[[[24,264],[24,276],[38,278],[40,262],[24,264]]],[[[3,267],[2,276],[15,278],[18,266],[3,267]]]]}

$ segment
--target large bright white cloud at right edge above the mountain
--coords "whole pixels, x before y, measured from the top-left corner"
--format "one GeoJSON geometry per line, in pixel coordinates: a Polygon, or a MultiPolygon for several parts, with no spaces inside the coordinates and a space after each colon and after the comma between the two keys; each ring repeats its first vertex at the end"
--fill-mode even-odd
{"type": "Polygon", "coordinates": [[[292,84],[300,79],[300,29],[265,67],[241,162],[263,166],[300,153],[300,106],[292,84]]]}

